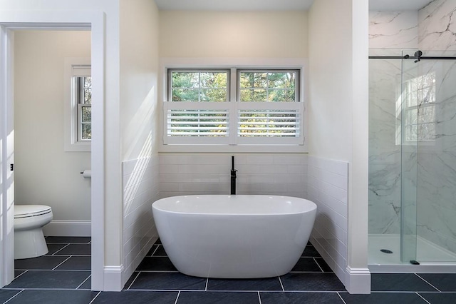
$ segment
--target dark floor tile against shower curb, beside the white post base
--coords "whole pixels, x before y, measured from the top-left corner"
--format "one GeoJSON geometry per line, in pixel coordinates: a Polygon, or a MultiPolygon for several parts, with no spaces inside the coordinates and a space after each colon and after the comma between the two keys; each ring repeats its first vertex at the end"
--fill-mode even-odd
{"type": "Polygon", "coordinates": [[[414,273],[373,273],[372,291],[437,291],[414,273]]]}

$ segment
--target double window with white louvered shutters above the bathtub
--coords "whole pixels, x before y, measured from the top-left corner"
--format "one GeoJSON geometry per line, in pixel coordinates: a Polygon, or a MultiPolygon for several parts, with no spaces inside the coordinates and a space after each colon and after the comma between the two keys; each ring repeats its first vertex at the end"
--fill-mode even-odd
{"type": "Polygon", "coordinates": [[[168,69],[164,143],[303,144],[300,78],[297,69],[168,69]]]}

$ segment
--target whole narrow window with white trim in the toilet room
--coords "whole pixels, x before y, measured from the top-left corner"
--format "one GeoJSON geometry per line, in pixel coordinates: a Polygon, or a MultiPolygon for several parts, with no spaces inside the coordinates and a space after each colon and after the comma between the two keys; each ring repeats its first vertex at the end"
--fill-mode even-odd
{"type": "Polygon", "coordinates": [[[92,78],[90,59],[65,60],[65,151],[90,151],[92,78]]]}

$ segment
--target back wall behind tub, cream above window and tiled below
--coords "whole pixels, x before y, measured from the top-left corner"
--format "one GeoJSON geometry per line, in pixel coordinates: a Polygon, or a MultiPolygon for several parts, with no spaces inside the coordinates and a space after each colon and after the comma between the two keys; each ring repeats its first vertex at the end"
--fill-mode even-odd
{"type": "MultiPolygon", "coordinates": [[[[306,11],[160,11],[160,57],[167,62],[304,62],[307,49],[306,11]]],[[[247,153],[228,153],[229,148],[222,153],[160,153],[160,197],[228,194],[232,155],[239,170],[237,193],[306,196],[304,154],[249,153],[245,147],[242,151],[247,153]]]]}

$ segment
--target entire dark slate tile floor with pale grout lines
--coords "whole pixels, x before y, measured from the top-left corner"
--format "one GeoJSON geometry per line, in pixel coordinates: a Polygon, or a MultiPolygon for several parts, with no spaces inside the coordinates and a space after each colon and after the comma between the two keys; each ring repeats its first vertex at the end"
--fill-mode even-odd
{"type": "Polygon", "coordinates": [[[16,278],[0,303],[456,303],[456,273],[378,273],[371,295],[350,295],[310,243],[291,273],[226,280],[179,273],[160,243],[152,245],[120,293],[90,290],[90,238],[48,237],[49,253],[16,260],[16,278]]]}

